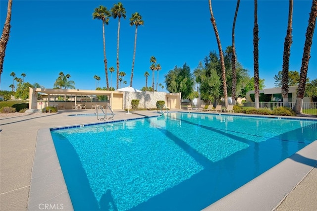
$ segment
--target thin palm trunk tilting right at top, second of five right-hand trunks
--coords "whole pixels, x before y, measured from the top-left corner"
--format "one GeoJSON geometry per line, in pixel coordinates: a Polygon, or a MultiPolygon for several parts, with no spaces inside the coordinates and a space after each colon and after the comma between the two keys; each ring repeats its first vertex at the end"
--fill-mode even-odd
{"type": "Polygon", "coordinates": [[[232,55],[231,55],[231,63],[232,63],[232,105],[236,105],[236,87],[237,87],[237,73],[236,73],[236,49],[234,45],[234,28],[236,26],[236,20],[239,10],[240,0],[237,1],[236,11],[234,13],[233,25],[232,25],[232,55]]]}

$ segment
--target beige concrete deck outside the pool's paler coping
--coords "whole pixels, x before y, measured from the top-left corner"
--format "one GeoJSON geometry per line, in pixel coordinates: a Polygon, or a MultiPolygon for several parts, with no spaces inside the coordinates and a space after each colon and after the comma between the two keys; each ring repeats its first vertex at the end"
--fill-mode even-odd
{"type": "MultiPolygon", "coordinates": [[[[0,210],[25,211],[28,206],[31,172],[37,132],[41,128],[97,122],[93,116],[67,114],[93,113],[94,110],[63,110],[58,113],[5,116],[0,114],[0,210]]],[[[153,116],[154,111],[126,114],[115,111],[115,120],[153,116]]],[[[317,210],[317,168],[283,200],[277,211],[317,210]]]]}

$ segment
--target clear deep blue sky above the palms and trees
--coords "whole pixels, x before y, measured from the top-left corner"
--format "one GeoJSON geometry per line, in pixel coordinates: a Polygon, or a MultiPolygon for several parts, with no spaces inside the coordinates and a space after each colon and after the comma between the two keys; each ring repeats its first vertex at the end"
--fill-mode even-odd
{"type": "MultiPolygon", "coordinates": [[[[110,9],[118,1],[104,0],[13,0],[10,40],[1,74],[1,90],[11,90],[10,73],[25,73],[25,82],[37,82],[53,88],[60,71],[70,74],[77,89],[95,89],[94,75],[106,86],[103,55],[102,21],[93,20],[95,7],[110,9]]],[[[143,16],[144,26],[138,27],[133,87],[145,86],[145,71],[151,75],[150,57],[154,55],[164,74],[185,62],[193,71],[210,51],[218,53],[210,22],[208,0],[124,0],[127,18],[121,18],[119,61],[124,80],[130,84],[135,26],[129,25],[134,12],[143,16]]],[[[273,76],[282,69],[284,38],[288,20],[288,0],[259,0],[259,72],[265,88],[274,87],[273,76]]],[[[293,44],[290,70],[300,71],[305,33],[312,0],[294,0],[293,44]]],[[[231,30],[236,0],[212,0],[223,50],[232,43],[231,30]]],[[[7,0],[0,0],[2,30],[7,0]]],[[[108,67],[116,69],[117,19],[106,26],[108,67]]],[[[238,61],[253,76],[254,1],[241,0],[235,28],[238,61]]],[[[317,29],[313,40],[308,77],[317,78],[317,29]]],[[[110,76],[110,74],[109,74],[110,76]]],[[[157,80],[157,73],[155,73],[157,80]]],[[[109,78],[110,83],[110,78],[109,78]]],[[[115,87],[115,74],[112,86],[115,87]]]]}

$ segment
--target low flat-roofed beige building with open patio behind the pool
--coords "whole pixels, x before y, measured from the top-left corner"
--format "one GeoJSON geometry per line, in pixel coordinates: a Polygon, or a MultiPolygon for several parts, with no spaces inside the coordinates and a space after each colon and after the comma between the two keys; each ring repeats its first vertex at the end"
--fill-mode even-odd
{"type": "Polygon", "coordinates": [[[165,101],[167,108],[179,109],[181,93],[30,88],[29,109],[47,106],[72,109],[78,104],[85,104],[86,108],[108,104],[112,109],[127,109],[132,108],[132,100],[140,100],[139,108],[156,108],[157,101],[165,101]],[[44,97],[42,101],[38,100],[38,93],[44,97]],[[98,100],[97,96],[105,96],[105,100],[98,100]]]}

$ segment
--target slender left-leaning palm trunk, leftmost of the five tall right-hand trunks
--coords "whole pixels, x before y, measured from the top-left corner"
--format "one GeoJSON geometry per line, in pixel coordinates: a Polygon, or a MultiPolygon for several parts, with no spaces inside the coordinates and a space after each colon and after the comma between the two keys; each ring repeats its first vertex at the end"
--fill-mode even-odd
{"type": "Polygon", "coordinates": [[[209,0],[209,10],[211,14],[211,23],[213,26],[214,34],[216,36],[217,44],[218,44],[218,49],[219,49],[219,56],[220,56],[220,63],[221,63],[221,72],[222,72],[222,86],[223,86],[223,97],[224,97],[224,105],[228,107],[228,94],[227,94],[227,83],[226,83],[226,69],[224,66],[224,58],[223,58],[223,52],[222,52],[222,47],[220,43],[220,37],[218,33],[218,29],[216,26],[216,20],[214,19],[213,12],[212,12],[212,7],[211,7],[211,0],[209,0]]]}

